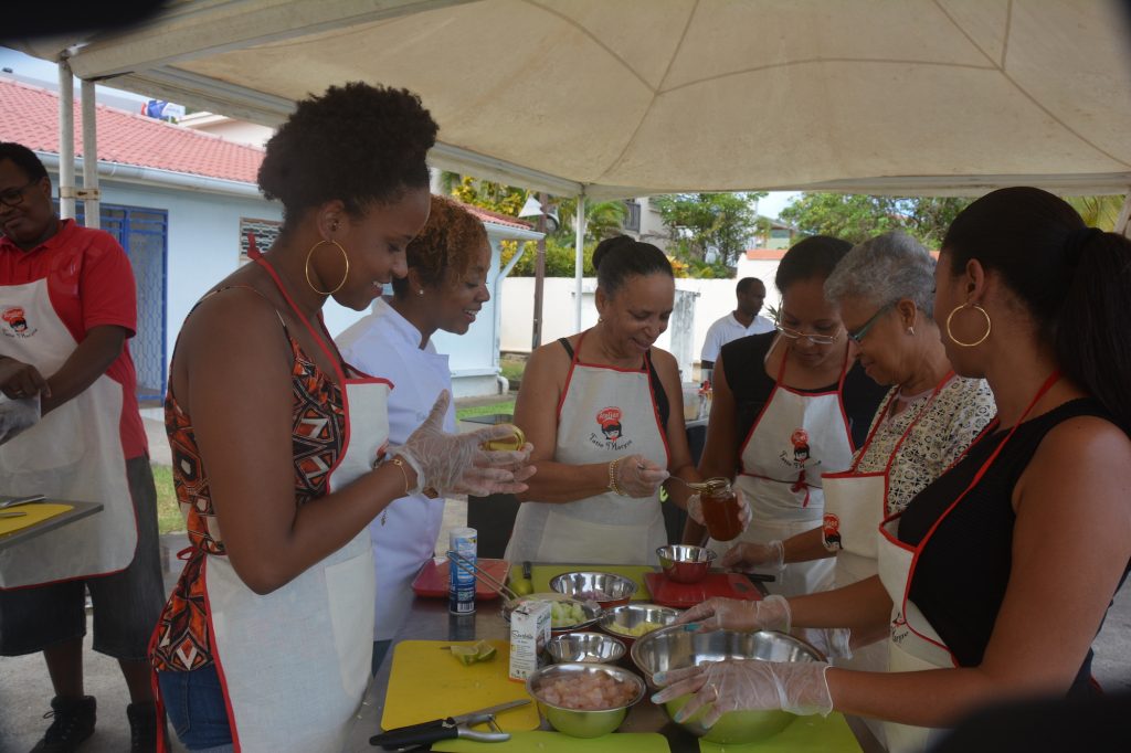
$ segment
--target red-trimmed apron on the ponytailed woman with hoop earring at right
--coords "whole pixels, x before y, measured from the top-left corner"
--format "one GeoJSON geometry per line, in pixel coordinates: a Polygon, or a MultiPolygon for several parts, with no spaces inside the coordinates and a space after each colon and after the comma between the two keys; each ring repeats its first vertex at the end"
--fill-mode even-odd
{"type": "MultiPolygon", "coordinates": [[[[891,597],[891,635],[888,640],[888,669],[889,672],[921,672],[925,669],[946,669],[958,666],[958,659],[947,648],[946,642],[931,625],[927,618],[915,603],[910,600],[912,580],[915,578],[915,568],[923,553],[926,543],[931,540],[934,531],[947,516],[958,507],[958,503],[969,494],[982,477],[985,476],[990,466],[1009,443],[1013,432],[1021,425],[1025,418],[1033,410],[1033,406],[1042,398],[1053,384],[1060,379],[1060,371],[1054,371],[1045,383],[1041,386],[1037,393],[1029,401],[1029,406],[1017,419],[1017,423],[1009,430],[1005,439],[994,448],[994,451],[982,464],[974,478],[966,486],[961,494],[955,497],[950,507],[939,516],[926,535],[917,546],[912,546],[899,540],[899,518],[903,512],[890,516],[883,520],[877,533],[880,581],[884,590],[891,597]]],[[[996,418],[991,422],[974,443],[992,433],[998,425],[996,418]]],[[[974,447],[974,443],[970,447],[974,447]]],[[[966,452],[969,448],[966,449],[966,452]]],[[[965,452],[964,452],[965,455],[965,452]]],[[[946,734],[942,729],[929,727],[913,727],[910,725],[884,722],[888,750],[891,753],[920,753],[926,751],[934,742],[946,734]]]]}

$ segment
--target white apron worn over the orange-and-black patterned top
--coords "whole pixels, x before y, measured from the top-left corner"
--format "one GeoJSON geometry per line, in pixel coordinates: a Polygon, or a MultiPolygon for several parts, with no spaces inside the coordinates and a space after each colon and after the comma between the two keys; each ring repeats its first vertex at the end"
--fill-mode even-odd
{"type": "MultiPolygon", "coordinates": [[[[257,261],[278,284],[267,261],[257,261]]],[[[331,362],[340,363],[291,305],[331,362]]],[[[383,379],[338,376],[345,447],[329,471],[328,493],[369,473],[389,434],[386,404],[392,386],[383,379]]],[[[227,557],[206,557],[201,573],[235,750],[342,751],[370,678],[377,585],[369,531],[359,531],[266,596],[248,588],[227,557]]]]}

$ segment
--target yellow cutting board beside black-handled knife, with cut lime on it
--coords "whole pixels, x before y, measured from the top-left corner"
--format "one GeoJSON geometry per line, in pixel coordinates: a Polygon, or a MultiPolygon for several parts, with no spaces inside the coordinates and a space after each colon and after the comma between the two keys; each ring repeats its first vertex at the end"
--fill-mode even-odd
{"type": "Polygon", "coordinates": [[[418,725],[489,706],[529,699],[498,717],[507,732],[537,729],[539,719],[525,683],[511,681],[510,642],[490,641],[494,659],[464,665],[447,646],[472,646],[475,641],[402,641],[392,650],[392,670],[385,694],[382,729],[418,725]]]}

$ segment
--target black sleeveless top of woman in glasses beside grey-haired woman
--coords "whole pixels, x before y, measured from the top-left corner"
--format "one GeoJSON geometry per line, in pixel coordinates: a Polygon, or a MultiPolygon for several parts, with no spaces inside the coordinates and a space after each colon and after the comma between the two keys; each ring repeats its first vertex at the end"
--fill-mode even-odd
{"type": "MultiPolygon", "coordinates": [[[[749,335],[727,343],[720,352],[726,384],[734,395],[735,427],[740,442],[750,434],[750,429],[774,391],[774,378],[766,373],[766,355],[770,352],[775,337],[777,332],[749,335]]],[[[820,393],[836,389],[836,383],[832,383],[815,390],[797,391],[820,393]]],[[[854,363],[845,374],[844,404],[854,450],[867,439],[872,416],[887,393],[888,388],[873,382],[858,363],[854,363]]]]}

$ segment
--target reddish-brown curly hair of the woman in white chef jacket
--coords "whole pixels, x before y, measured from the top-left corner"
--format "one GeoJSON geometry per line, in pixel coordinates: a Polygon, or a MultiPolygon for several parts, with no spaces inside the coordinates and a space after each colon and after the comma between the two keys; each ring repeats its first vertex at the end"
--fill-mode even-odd
{"type": "MultiPolygon", "coordinates": [[[[487,231],[478,217],[458,201],[432,194],[432,210],[420,235],[405,251],[408,268],[415,269],[421,282],[440,287],[463,279],[475,261],[476,253],[487,246],[487,231]]],[[[408,293],[408,280],[392,278],[397,296],[408,293]]]]}

